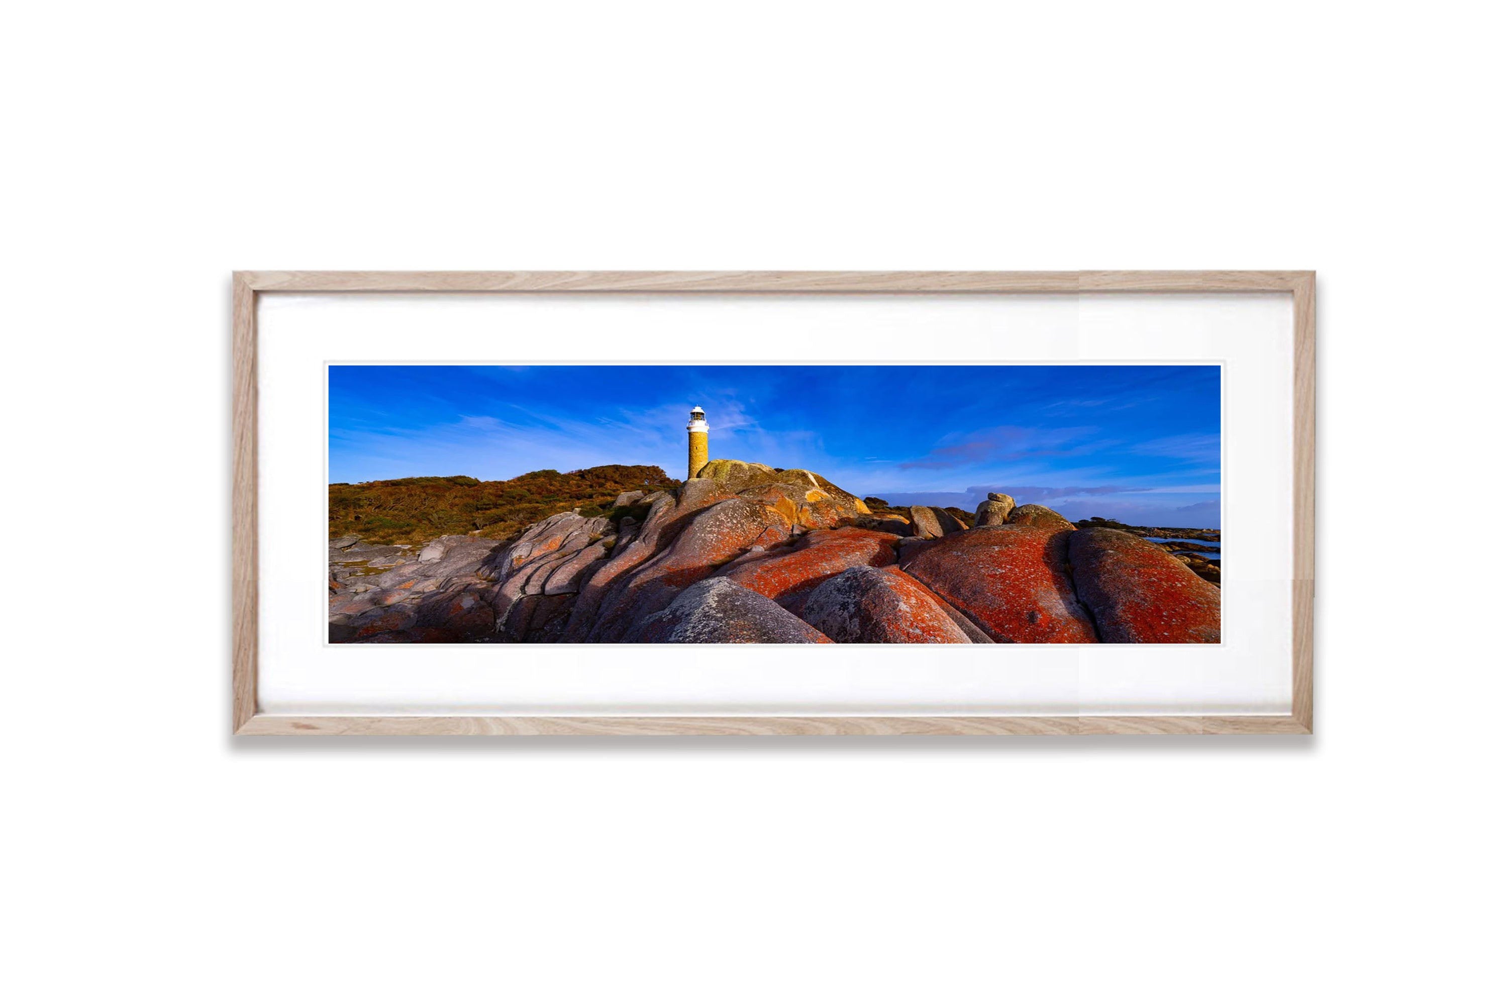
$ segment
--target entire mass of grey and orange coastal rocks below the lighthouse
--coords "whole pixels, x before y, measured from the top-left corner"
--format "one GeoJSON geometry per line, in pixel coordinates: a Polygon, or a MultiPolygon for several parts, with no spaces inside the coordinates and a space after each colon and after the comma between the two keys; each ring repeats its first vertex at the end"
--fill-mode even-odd
{"type": "Polygon", "coordinates": [[[410,548],[338,537],[330,640],[1219,640],[1219,587],[1189,570],[1197,561],[1218,581],[1218,557],[1186,546],[1093,521],[1079,530],[1002,494],[972,515],[870,512],[811,471],[713,461],[701,473],[674,494],[622,492],[606,515],[556,513],[503,542],[451,534],[410,548]]]}

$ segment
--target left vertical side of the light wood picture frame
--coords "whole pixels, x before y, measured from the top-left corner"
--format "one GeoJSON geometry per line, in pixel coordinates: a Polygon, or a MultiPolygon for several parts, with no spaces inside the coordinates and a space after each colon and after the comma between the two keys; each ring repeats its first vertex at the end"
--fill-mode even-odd
{"type": "Polygon", "coordinates": [[[256,292],[231,278],[231,715],[256,713],[256,292]]]}

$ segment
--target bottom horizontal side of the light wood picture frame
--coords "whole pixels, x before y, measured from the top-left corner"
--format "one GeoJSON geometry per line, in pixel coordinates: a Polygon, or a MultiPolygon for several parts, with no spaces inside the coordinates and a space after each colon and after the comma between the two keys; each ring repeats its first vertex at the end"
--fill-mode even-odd
{"type": "Polygon", "coordinates": [[[390,716],[256,715],[241,736],[1117,736],[1305,735],[1290,715],[1166,716],[390,716]]]}

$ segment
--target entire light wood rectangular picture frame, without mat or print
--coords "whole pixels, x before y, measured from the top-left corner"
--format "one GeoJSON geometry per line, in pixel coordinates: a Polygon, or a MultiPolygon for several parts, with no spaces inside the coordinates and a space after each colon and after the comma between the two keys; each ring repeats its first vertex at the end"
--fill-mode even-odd
{"type": "Polygon", "coordinates": [[[1314,723],[1316,278],[1311,271],[341,272],[232,277],[232,730],[291,735],[1311,735],[1314,723]],[[1291,707],[1148,716],[324,716],[258,707],[258,298],[274,292],[461,294],[1249,294],[1293,298],[1291,707]]]}

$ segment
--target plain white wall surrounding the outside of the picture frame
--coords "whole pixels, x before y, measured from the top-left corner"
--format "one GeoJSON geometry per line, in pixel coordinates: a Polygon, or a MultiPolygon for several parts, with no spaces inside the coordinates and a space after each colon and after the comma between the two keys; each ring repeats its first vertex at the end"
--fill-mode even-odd
{"type": "Polygon", "coordinates": [[[0,986],[1499,993],[1496,18],[9,12],[0,986]],[[1320,271],[1317,738],[229,738],[231,269],[1079,266],[1320,271]]]}

